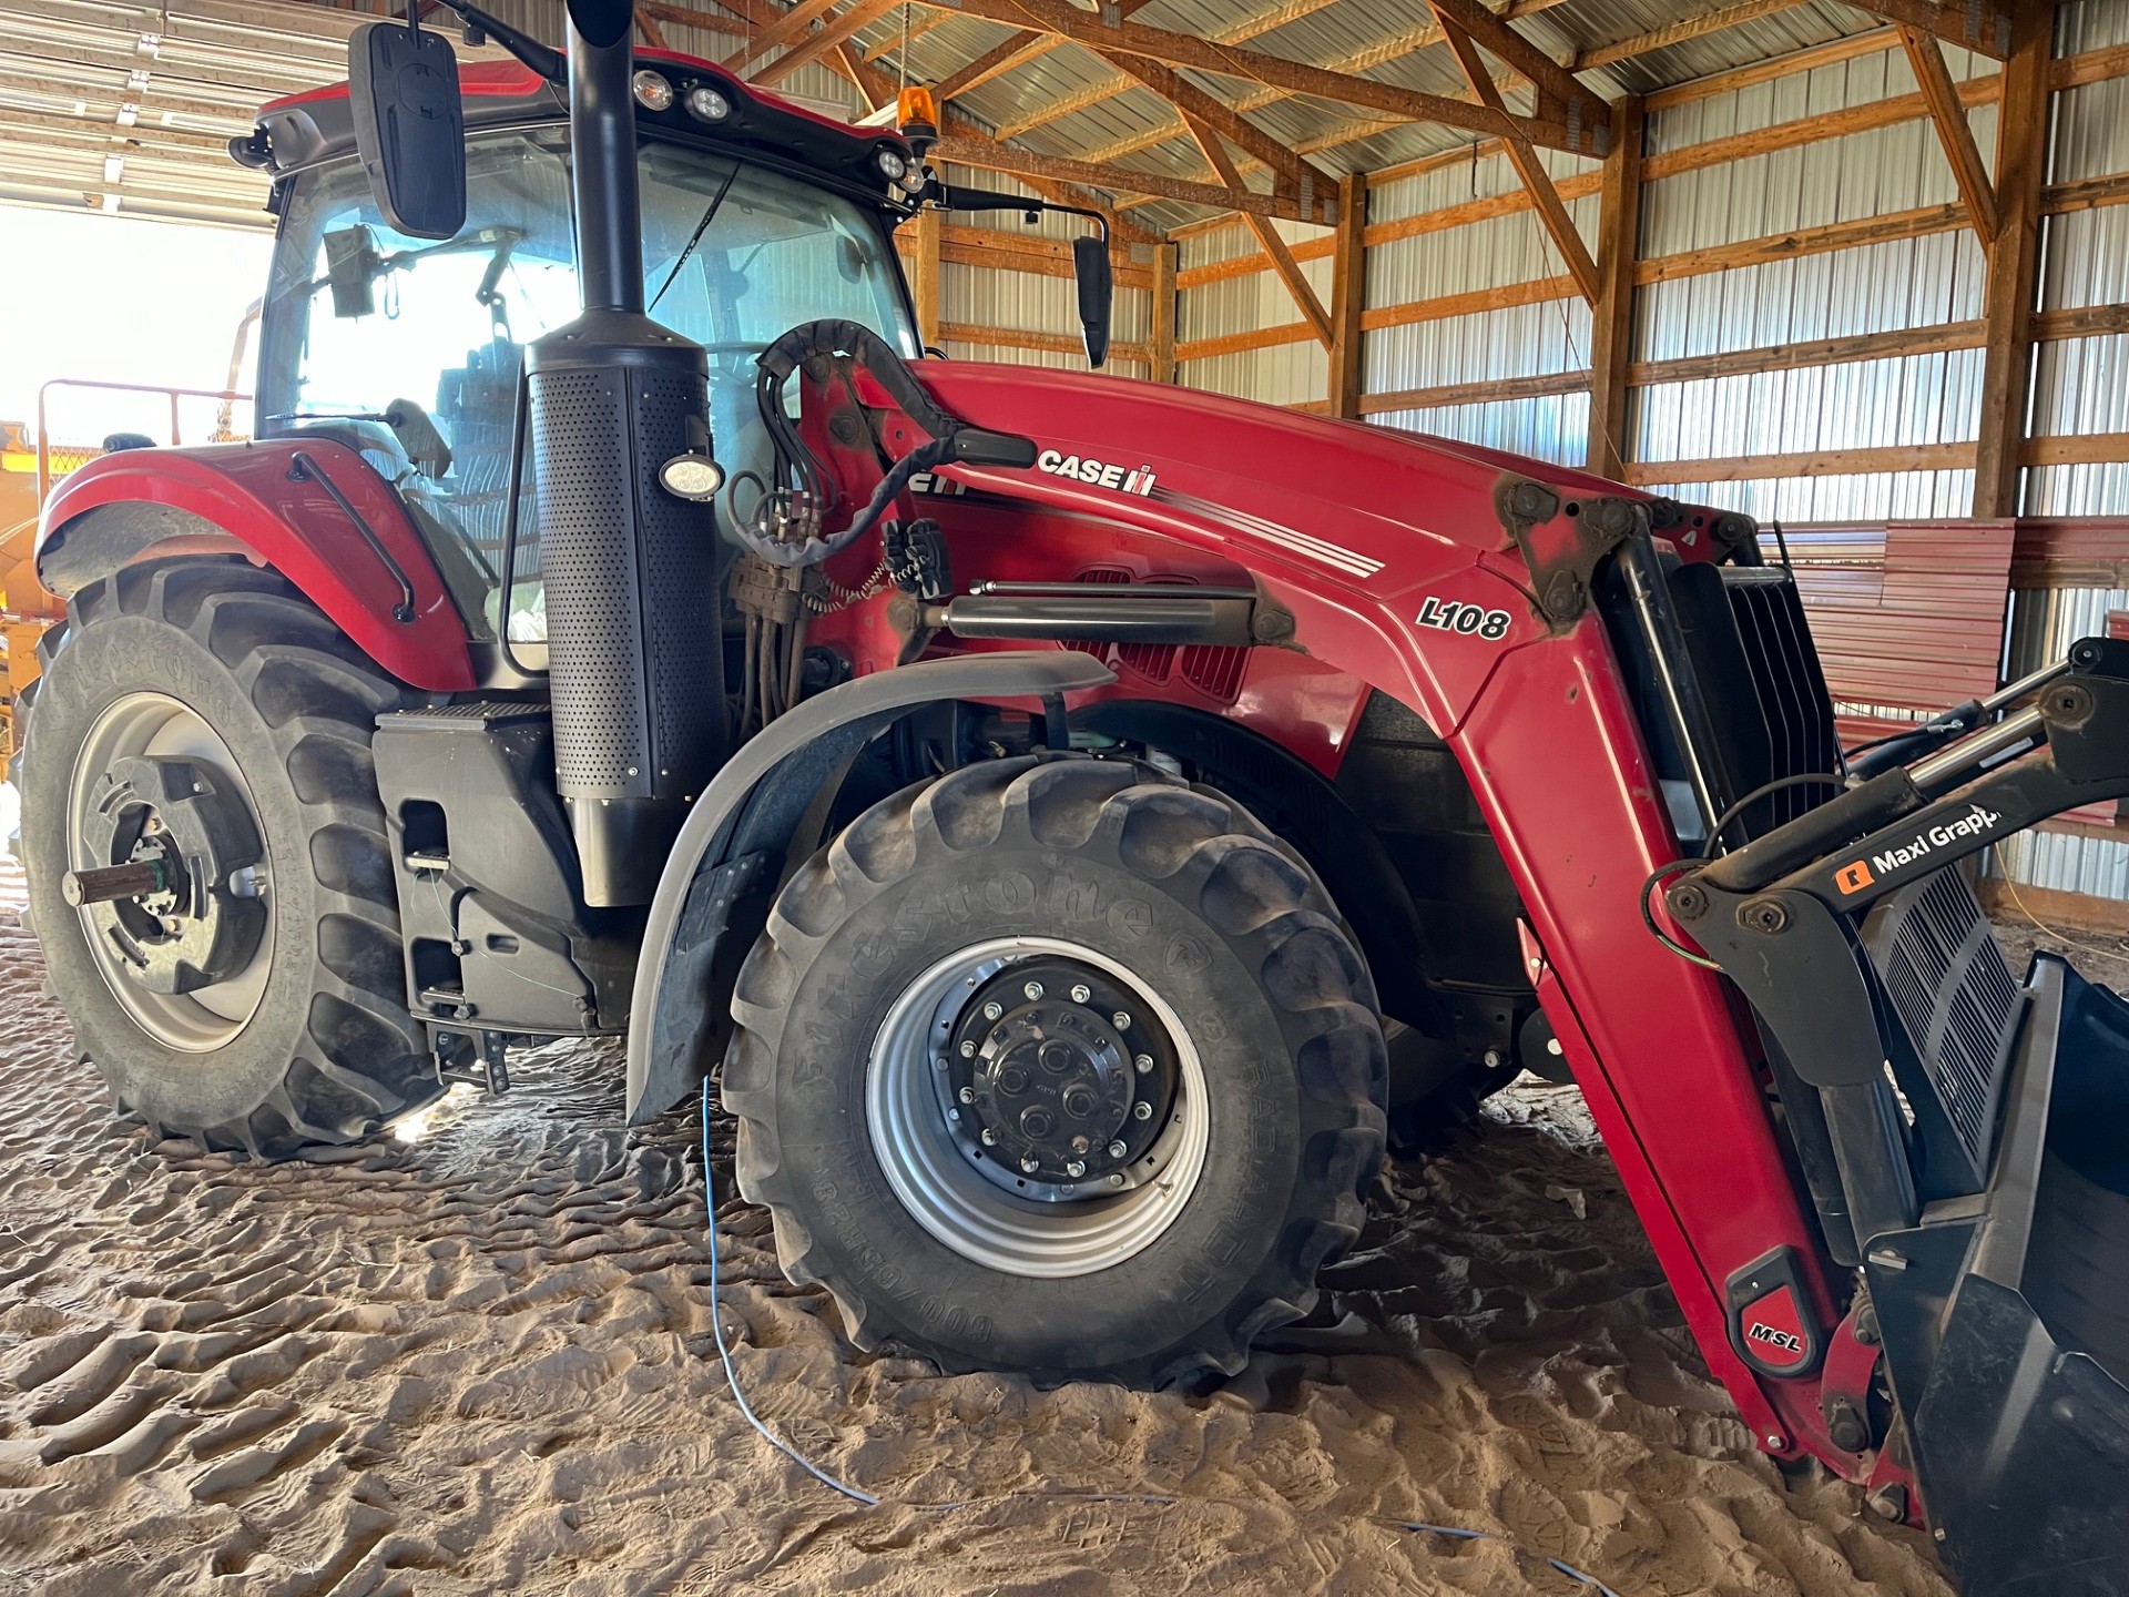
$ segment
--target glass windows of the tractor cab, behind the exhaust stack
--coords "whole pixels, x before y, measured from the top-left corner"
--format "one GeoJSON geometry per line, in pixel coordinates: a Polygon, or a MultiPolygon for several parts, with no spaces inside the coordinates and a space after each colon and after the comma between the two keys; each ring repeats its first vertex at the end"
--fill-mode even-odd
{"type": "MultiPolygon", "coordinates": [[[[639,164],[645,300],[709,349],[728,481],[769,466],[754,402],[769,341],[843,317],[918,353],[877,213],[696,147],[645,141],[639,164]]],[[[466,226],[445,243],[394,232],[358,162],[296,181],[260,339],[260,437],[324,432],[360,449],[400,490],[477,639],[502,626],[522,643],[547,637],[530,449],[509,605],[502,517],[524,347],[575,315],[560,128],[473,136],[466,226]]]]}

